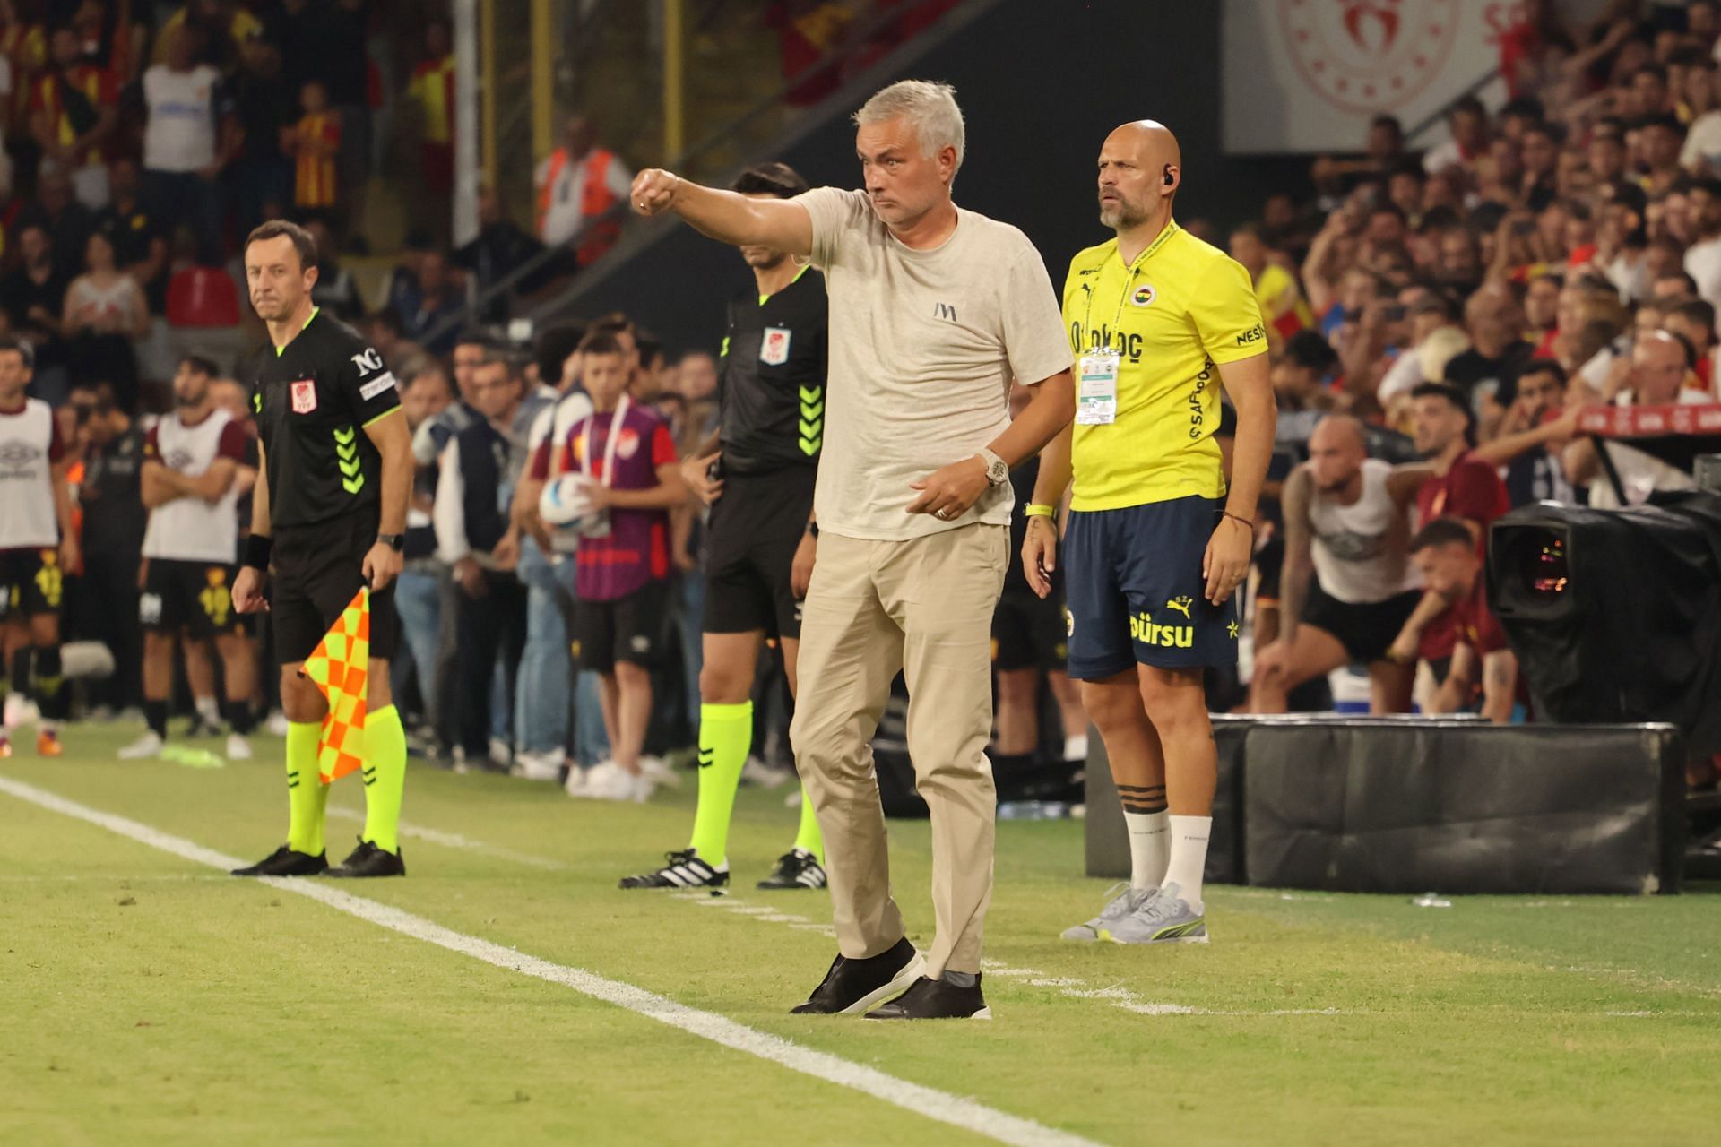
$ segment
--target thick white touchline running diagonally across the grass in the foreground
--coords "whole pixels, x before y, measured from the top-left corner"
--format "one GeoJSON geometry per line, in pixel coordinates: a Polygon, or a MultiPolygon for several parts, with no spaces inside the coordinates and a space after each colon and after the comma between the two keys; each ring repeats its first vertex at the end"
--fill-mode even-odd
{"type": "MultiPolygon", "coordinates": [[[[22,784],[10,777],[0,777],[0,793],[15,796],[17,800],[36,805],[38,808],[46,808],[76,820],[84,820],[117,836],[124,836],[138,841],[139,844],[148,844],[150,848],[172,853],[174,856],[181,856],[200,865],[234,868],[243,863],[236,856],[224,856],[222,853],[194,844],[184,837],[170,836],[160,829],[139,824],[138,820],[115,817],[114,813],[79,805],[77,801],[65,800],[64,796],[57,796],[46,789],[38,789],[33,784],[22,784]]],[[[392,932],[410,935],[427,944],[435,944],[437,948],[446,948],[447,951],[460,953],[461,956],[472,956],[473,960],[496,968],[571,987],[582,996],[590,996],[592,999],[626,1008],[628,1011],[668,1027],[680,1028],[682,1032],[711,1040],[712,1044],[719,1044],[749,1056],[757,1056],[759,1059],[769,1059],[771,1063],[785,1066],[790,1071],[799,1071],[816,1080],[824,1080],[826,1083],[857,1090],[862,1095],[881,1099],[912,1114],[948,1123],[950,1126],[984,1135],[986,1138],[993,1138],[1000,1144],[1021,1144],[1024,1147],[1039,1147],[1043,1144],[1062,1147],[1096,1147],[1095,1140],[1072,1135],[1070,1132],[1060,1132],[1057,1128],[1034,1123],[1033,1119],[1024,1119],[1022,1116],[1007,1114],[972,1099],[940,1092],[921,1083],[910,1083],[909,1080],[898,1080],[897,1076],[886,1075],[878,1068],[850,1063],[848,1059],[842,1059],[830,1052],[804,1047],[780,1035],[754,1030],[712,1011],[700,1011],[699,1008],[678,1004],[666,996],[656,996],[621,980],[611,980],[592,972],[551,963],[549,960],[539,960],[537,956],[527,956],[509,948],[503,948],[501,944],[478,939],[477,935],[454,932],[453,929],[432,923],[423,917],[415,917],[410,911],[403,911],[373,899],[365,899],[363,896],[342,892],[329,884],[282,877],[260,877],[258,882],[268,884],[282,892],[296,892],[308,899],[320,901],[330,908],[348,913],[349,917],[358,917],[360,920],[375,923],[392,932]]],[[[838,1020],[838,1023],[840,1021],[842,1020],[838,1020]]]]}

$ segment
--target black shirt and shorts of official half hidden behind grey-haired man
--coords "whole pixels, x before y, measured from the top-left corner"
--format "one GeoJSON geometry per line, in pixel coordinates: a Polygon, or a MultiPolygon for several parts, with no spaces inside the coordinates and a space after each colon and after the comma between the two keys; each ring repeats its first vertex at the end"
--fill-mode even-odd
{"type": "Polygon", "coordinates": [[[824,440],[824,277],[802,268],[761,299],[730,301],[723,339],[723,497],[706,542],[706,633],[800,638],[790,586],[795,549],[812,516],[824,440]]]}

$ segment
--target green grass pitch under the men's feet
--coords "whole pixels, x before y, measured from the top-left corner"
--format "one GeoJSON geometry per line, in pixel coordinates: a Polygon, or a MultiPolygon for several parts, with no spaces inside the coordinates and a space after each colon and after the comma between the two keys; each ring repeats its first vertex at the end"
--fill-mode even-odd
{"type": "MultiPolygon", "coordinates": [[[[134,733],[72,727],[60,760],[21,736],[0,779],[244,860],[281,843],[279,741],[219,770],[114,760],[134,733]]],[[[823,892],[752,887],[793,834],[781,789],[742,793],[728,898],[614,886],[685,843],[692,786],[616,807],[413,765],[411,875],[342,891],[1048,1135],[1695,1144],[1721,1130],[1714,886],[1449,910],[1213,887],[1210,946],[1076,946],[1058,932],[1105,891],[1081,875],[1081,825],[1005,822],[991,1023],[802,1018],[788,1008],[835,942],[823,892]]],[[[339,860],[356,781],[330,805],[339,860]]],[[[893,824],[891,846],[924,942],[926,824],[893,824]]],[[[0,791],[0,1144],[540,1142],[990,1137],[0,791]]]]}

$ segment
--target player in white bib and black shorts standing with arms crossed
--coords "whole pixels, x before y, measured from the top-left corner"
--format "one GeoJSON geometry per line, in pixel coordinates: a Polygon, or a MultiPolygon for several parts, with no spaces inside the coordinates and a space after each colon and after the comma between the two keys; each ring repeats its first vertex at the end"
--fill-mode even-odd
{"type": "MultiPolygon", "coordinates": [[[[119,751],[155,757],[167,739],[167,702],[174,686],[174,643],[215,641],[227,686],[227,757],[250,760],[251,693],[256,659],[244,621],[232,607],[239,559],[239,466],[244,428],[215,406],[217,368],[188,354],[174,375],[174,413],[143,444],[145,580],[138,598],[143,623],[143,712],[150,731],[119,751]]],[[[210,690],[213,693],[213,690],[210,690]]],[[[213,696],[198,698],[205,710],[213,696]]],[[[207,715],[207,714],[205,714],[207,715]]]]}

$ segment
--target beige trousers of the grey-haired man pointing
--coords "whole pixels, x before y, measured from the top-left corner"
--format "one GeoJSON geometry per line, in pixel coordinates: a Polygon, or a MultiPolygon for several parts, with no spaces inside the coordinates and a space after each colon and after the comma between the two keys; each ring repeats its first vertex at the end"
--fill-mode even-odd
{"type": "Polygon", "coordinates": [[[926,975],[979,972],[996,815],[986,758],[991,614],[1009,535],[971,524],[910,542],[819,537],[790,736],[824,832],[836,946],[850,960],[876,956],[905,932],[873,770],[873,733],[902,671],[916,788],[933,813],[938,932],[926,975]]]}

